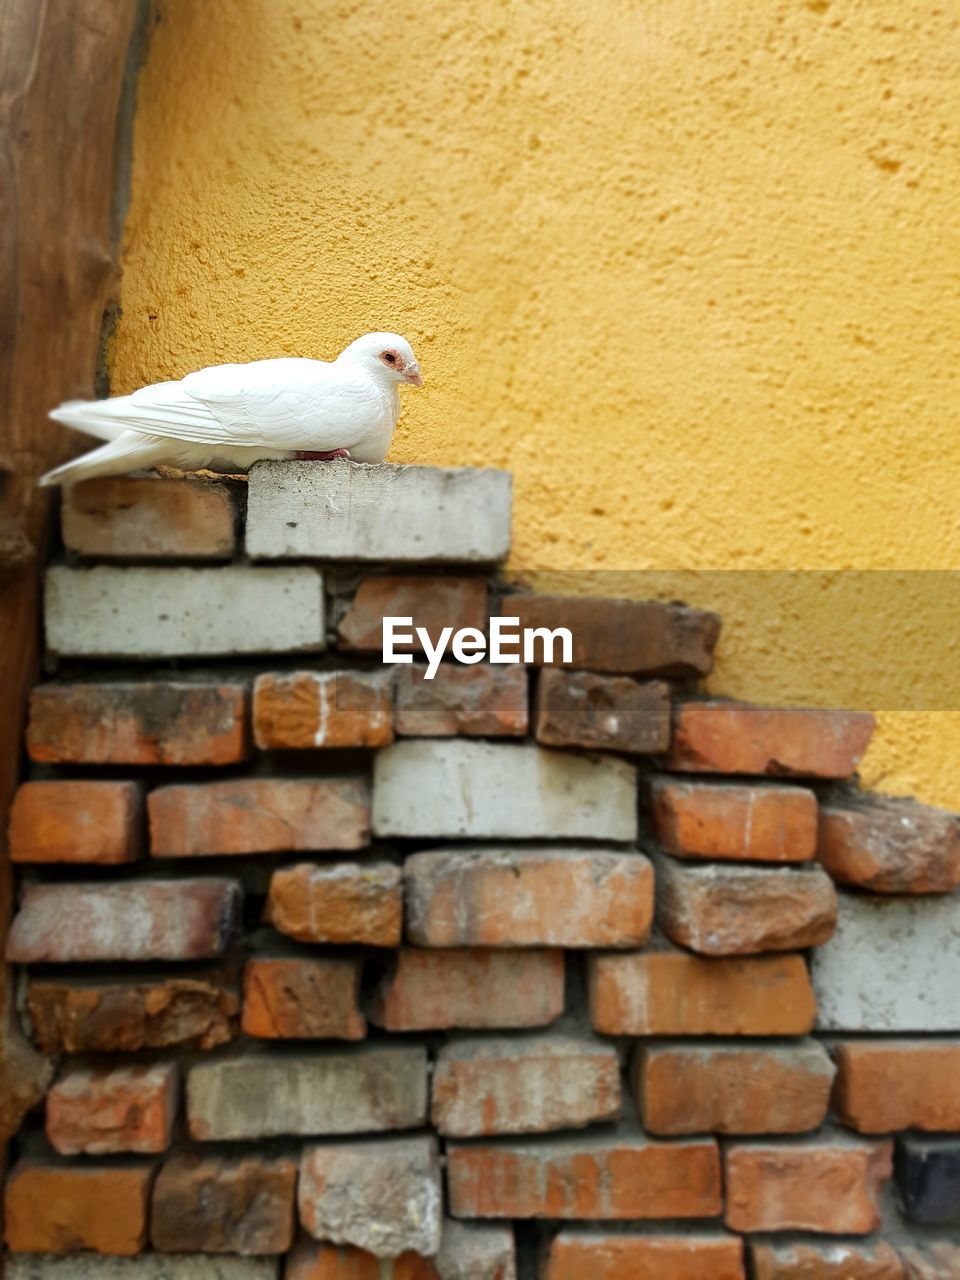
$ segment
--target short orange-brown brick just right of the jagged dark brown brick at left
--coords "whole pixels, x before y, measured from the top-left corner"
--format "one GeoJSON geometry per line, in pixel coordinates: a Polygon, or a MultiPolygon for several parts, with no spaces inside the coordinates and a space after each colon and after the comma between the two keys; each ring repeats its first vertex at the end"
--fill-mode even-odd
{"type": "Polygon", "coordinates": [[[364,1039],[362,960],[255,956],[243,970],[243,1032],[261,1039],[364,1039]]]}

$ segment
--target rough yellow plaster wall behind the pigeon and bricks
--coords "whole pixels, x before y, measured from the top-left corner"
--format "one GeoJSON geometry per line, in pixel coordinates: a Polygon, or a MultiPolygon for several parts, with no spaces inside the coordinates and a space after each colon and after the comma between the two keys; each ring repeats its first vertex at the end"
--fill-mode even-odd
{"type": "MultiPolygon", "coordinates": [[[[392,457],[509,467],[518,568],[957,563],[950,0],[157,18],[114,392],[398,329],[428,387],[392,457]]],[[[777,608],[739,573],[658,589],[724,613],[718,690],[869,698],[881,625],[844,604],[812,637],[813,581],[777,608]]],[[[920,666],[960,668],[954,636],[919,627],[920,666]]],[[[956,764],[960,714],[920,707],[865,776],[960,808],[956,764]]]]}

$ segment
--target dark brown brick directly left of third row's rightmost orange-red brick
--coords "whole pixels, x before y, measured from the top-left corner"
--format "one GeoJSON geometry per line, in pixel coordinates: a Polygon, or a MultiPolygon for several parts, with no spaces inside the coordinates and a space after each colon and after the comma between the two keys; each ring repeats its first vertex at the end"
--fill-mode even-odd
{"type": "Polygon", "coordinates": [[[534,717],[544,746],[650,754],[669,746],[669,685],[630,676],[547,667],[536,684],[534,717]]]}

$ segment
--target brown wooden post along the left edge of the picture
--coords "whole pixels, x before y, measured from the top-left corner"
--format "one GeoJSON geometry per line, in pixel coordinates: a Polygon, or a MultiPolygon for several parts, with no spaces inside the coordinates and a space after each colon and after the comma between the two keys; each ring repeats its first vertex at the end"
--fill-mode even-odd
{"type": "MultiPolygon", "coordinates": [[[[49,497],[77,452],[47,420],[91,396],[111,256],[114,147],[136,0],[0,0],[0,943],[12,911],[6,818],[38,654],[49,497]]],[[[3,946],[0,946],[0,957],[3,946]]],[[[0,1144],[46,1088],[0,959],[0,1144]]]]}

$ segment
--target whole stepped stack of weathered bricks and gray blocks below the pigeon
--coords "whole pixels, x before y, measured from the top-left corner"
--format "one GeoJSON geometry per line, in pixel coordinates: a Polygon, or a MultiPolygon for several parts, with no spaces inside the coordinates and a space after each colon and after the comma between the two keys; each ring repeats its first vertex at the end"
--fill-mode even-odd
{"type": "Polygon", "coordinates": [[[248,489],[246,556],[229,485],[65,498],[8,1277],[960,1275],[960,837],[855,788],[870,718],[698,694],[710,613],[500,598],[500,474],[248,489]],[[379,660],[492,613],[571,666],[379,660]]]}

